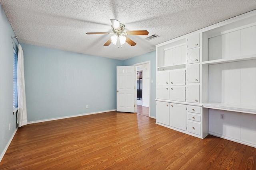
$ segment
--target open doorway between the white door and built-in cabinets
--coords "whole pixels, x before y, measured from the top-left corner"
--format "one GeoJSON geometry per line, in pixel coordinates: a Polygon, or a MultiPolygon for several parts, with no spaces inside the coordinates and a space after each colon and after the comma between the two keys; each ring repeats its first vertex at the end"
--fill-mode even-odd
{"type": "Polygon", "coordinates": [[[134,64],[136,68],[136,113],[150,117],[150,61],[134,64]]]}

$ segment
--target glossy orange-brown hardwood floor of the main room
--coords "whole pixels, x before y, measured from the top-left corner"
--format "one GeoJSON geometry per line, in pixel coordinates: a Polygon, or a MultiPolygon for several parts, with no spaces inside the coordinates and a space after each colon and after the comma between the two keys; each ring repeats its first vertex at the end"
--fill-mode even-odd
{"type": "Polygon", "coordinates": [[[256,170],[256,148],[112,111],[19,128],[0,169],[256,170]]]}

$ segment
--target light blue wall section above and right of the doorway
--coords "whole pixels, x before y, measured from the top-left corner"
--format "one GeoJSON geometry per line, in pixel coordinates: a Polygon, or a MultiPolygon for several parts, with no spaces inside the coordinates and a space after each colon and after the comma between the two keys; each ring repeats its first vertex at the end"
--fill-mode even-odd
{"type": "Polygon", "coordinates": [[[129,66],[145,61],[150,61],[150,79],[153,80],[150,84],[150,116],[156,117],[156,51],[124,60],[124,65],[129,66]]]}

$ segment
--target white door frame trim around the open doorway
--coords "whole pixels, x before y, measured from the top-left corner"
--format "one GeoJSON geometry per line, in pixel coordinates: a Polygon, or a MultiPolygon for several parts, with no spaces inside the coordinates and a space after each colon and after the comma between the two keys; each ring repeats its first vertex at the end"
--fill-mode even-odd
{"type": "MultiPolygon", "coordinates": [[[[134,87],[137,87],[137,66],[140,66],[140,65],[142,65],[142,64],[149,64],[149,101],[148,101],[148,105],[149,105],[149,107],[148,107],[148,116],[149,117],[151,117],[151,113],[150,113],[150,96],[151,96],[151,65],[150,65],[150,61],[144,61],[144,62],[142,62],[142,63],[136,63],[136,64],[133,64],[134,65],[134,69],[135,69],[135,71],[134,71],[134,87]]],[[[137,94],[137,88],[136,89],[134,89],[134,104],[135,104],[135,113],[137,113],[137,95],[135,95],[135,94],[137,94]]],[[[142,98],[142,102],[143,102],[143,98],[142,98]]]]}

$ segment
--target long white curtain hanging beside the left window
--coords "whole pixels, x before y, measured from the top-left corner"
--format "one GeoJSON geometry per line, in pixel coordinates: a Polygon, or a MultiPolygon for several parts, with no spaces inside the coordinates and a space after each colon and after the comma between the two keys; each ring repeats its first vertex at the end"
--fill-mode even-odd
{"type": "Polygon", "coordinates": [[[17,123],[19,127],[28,124],[25,79],[24,79],[24,57],[23,50],[19,44],[18,66],[17,66],[17,83],[18,83],[18,114],[17,123]]]}

